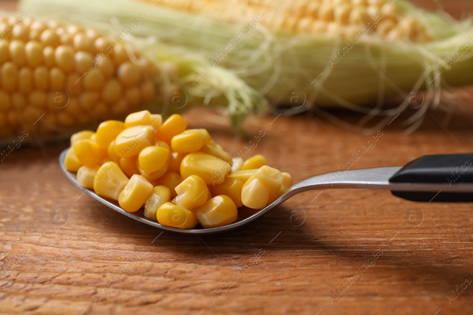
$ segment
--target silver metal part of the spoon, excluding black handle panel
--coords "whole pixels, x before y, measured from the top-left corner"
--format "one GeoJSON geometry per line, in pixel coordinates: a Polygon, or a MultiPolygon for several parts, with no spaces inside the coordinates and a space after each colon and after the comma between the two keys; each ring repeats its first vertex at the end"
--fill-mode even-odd
{"type": "Polygon", "coordinates": [[[135,219],[137,221],[155,226],[157,228],[163,230],[174,231],[178,233],[195,233],[195,234],[210,234],[216,232],[223,232],[228,230],[236,229],[240,226],[243,226],[251,221],[262,216],[264,213],[267,213],[272,208],[278,206],[279,204],[283,203],[284,201],[288,200],[290,197],[297,195],[298,193],[307,191],[307,190],[315,190],[315,189],[329,189],[329,188],[365,188],[365,189],[386,189],[386,190],[393,190],[393,191],[429,191],[429,192],[437,192],[439,190],[442,191],[465,191],[471,192],[472,191],[472,184],[470,185],[454,185],[448,186],[443,183],[390,183],[389,179],[400,169],[401,166],[395,167],[378,167],[372,169],[363,169],[363,170],[347,170],[342,173],[342,175],[336,175],[336,173],[327,173],[323,175],[314,176],[308,179],[304,179],[292,187],[289,187],[284,193],[282,193],[278,198],[276,198],[271,204],[268,204],[263,209],[257,211],[256,213],[242,219],[241,221],[236,221],[232,224],[222,226],[219,228],[212,228],[212,229],[193,229],[193,230],[184,230],[184,229],[177,229],[169,226],[165,226],[159,224],[156,221],[151,221],[146,219],[143,216],[142,211],[137,211],[135,213],[129,213],[123,210],[118,202],[103,198],[96,194],[95,191],[87,189],[85,187],[81,187],[76,178],[76,174],[66,170],[64,167],[64,159],[67,153],[67,150],[64,150],[61,155],[59,156],[59,164],[61,165],[61,170],[64,172],[66,177],[77,187],[81,190],[85,191],[86,194],[91,196],[92,198],[96,199],[102,204],[105,204],[107,207],[112,208],[116,212],[119,212],[127,217],[135,219]]]}

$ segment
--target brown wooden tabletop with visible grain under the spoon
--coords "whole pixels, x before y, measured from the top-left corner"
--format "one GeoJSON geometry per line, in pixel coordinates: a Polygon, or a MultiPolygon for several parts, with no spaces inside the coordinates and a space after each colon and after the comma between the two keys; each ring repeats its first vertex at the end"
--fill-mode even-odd
{"type": "MultiPolygon", "coordinates": [[[[473,6],[440,3],[454,15],[473,6]]],[[[355,122],[350,113],[337,114],[355,122]]],[[[262,153],[297,182],[348,160],[361,169],[473,152],[471,119],[446,117],[429,112],[408,135],[401,115],[354,161],[351,154],[371,134],[276,112],[246,121],[249,136],[264,136],[245,157],[262,153]]],[[[196,109],[185,118],[210,128],[229,153],[248,145],[217,113],[196,109]]],[[[388,191],[311,191],[241,229],[185,236],[82,195],[59,168],[65,147],[22,145],[0,162],[2,315],[471,314],[472,204],[413,203],[388,191]],[[54,221],[58,209],[62,217],[54,221]]]]}

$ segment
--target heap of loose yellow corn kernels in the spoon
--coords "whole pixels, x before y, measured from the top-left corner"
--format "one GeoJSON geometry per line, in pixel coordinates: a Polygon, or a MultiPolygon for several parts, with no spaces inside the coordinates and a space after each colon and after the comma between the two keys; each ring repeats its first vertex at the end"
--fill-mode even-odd
{"type": "Polygon", "coordinates": [[[206,129],[186,128],[180,115],[162,122],[149,111],[106,120],[70,137],[64,166],[123,210],[144,207],[147,219],[181,229],[231,224],[237,208],[261,209],[292,186],[263,155],[232,159],[206,129]]]}

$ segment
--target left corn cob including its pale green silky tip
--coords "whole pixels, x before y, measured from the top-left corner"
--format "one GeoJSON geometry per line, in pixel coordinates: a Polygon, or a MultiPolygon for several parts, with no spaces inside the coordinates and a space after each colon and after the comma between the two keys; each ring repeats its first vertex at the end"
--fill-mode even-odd
{"type": "MultiPolygon", "coordinates": [[[[137,49],[139,45],[110,34],[31,18],[25,12],[0,16],[0,138],[14,137],[22,130],[69,136],[139,106],[154,106],[154,111],[164,112],[163,106],[173,105],[167,102],[168,91],[176,88],[184,88],[190,105],[202,102],[208,94],[216,96],[224,90],[221,82],[235,79],[224,70],[213,69],[207,71],[210,79],[201,79],[191,90],[186,84],[195,81],[196,71],[205,72],[205,67],[177,55],[167,63],[156,58],[151,61],[137,49]],[[164,75],[160,68],[164,68],[164,75]]],[[[158,46],[143,48],[151,50],[158,50],[158,46]]],[[[239,95],[253,106],[251,89],[236,81],[242,85],[239,95]]],[[[255,102],[261,103],[261,99],[255,102]]],[[[179,111],[174,107],[170,110],[179,111]]],[[[237,123],[238,119],[234,120],[237,123]]]]}

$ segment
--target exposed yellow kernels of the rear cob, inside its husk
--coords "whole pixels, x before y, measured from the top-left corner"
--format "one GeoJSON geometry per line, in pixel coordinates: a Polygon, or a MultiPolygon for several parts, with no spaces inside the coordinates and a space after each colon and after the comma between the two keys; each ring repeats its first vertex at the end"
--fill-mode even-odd
{"type": "Polygon", "coordinates": [[[218,12],[219,19],[245,24],[262,12],[264,18],[258,19],[257,23],[272,31],[343,37],[358,34],[367,23],[373,24],[373,17],[376,20],[382,17],[379,24],[376,22],[377,27],[373,31],[387,39],[415,42],[430,39],[420,20],[403,14],[396,5],[391,5],[392,0],[291,0],[279,1],[274,6],[274,0],[200,2],[188,0],[184,4],[183,1],[160,0],[156,5],[210,18],[211,12],[218,12]]]}

